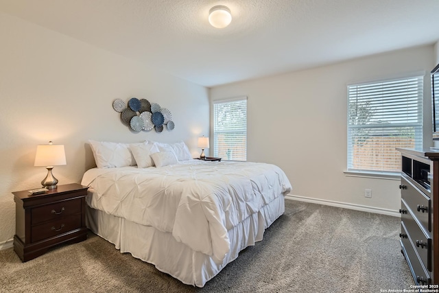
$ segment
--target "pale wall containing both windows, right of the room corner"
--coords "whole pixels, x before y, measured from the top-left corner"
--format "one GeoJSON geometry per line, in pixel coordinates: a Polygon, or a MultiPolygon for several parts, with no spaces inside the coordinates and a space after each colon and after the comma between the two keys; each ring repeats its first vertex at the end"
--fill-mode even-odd
{"type": "Polygon", "coordinates": [[[292,194],[396,211],[398,180],[344,175],[346,85],[425,71],[425,143],[431,142],[429,71],[434,46],[416,47],[306,71],[215,86],[212,100],[248,96],[248,161],[280,166],[292,194]],[[372,189],[372,198],[364,189],[372,189]]]}

